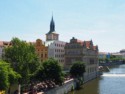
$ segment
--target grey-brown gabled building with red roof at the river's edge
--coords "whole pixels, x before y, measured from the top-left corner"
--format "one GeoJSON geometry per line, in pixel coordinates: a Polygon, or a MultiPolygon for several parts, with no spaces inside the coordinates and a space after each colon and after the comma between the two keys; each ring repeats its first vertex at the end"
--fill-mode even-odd
{"type": "Polygon", "coordinates": [[[80,41],[74,37],[65,45],[65,69],[69,70],[74,62],[85,63],[84,80],[98,76],[98,46],[91,41],[80,41]]]}

